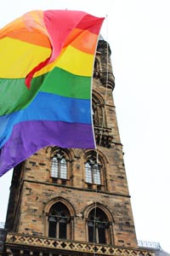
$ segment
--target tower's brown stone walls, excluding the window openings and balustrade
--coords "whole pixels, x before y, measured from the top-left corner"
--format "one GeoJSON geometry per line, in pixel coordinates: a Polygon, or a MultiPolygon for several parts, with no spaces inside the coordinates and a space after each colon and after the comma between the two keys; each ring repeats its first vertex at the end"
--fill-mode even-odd
{"type": "MultiPolygon", "coordinates": [[[[96,205],[103,207],[110,214],[112,244],[120,247],[138,247],[112,94],[114,77],[110,54],[109,44],[99,41],[96,55],[99,66],[94,70],[93,90],[104,99],[106,127],[94,125],[94,129],[95,133],[101,131],[98,138],[101,138],[105,145],[97,144],[97,152],[105,166],[103,183],[101,186],[92,184],[88,187],[84,173],[84,155],[88,149],[73,148],[67,148],[70,155],[69,177],[65,183],[61,179],[52,180],[52,147],[42,148],[14,169],[6,221],[9,232],[48,236],[48,209],[56,199],[62,199],[72,207],[72,240],[87,241],[86,211],[88,207],[96,205]],[[102,133],[104,128],[105,134],[102,133]]],[[[96,134],[95,136],[97,137],[96,134]]]]}

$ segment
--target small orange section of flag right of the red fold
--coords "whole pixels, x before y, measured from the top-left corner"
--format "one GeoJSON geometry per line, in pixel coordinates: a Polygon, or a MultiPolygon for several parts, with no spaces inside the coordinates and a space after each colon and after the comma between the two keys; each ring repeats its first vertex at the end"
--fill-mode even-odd
{"type": "Polygon", "coordinates": [[[65,41],[65,46],[71,44],[74,48],[77,48],[85,53],[94,55],[96,42],[98,40],[98,35],[89,32],[88,30],[82,30],[75,28],[65,41]]]}

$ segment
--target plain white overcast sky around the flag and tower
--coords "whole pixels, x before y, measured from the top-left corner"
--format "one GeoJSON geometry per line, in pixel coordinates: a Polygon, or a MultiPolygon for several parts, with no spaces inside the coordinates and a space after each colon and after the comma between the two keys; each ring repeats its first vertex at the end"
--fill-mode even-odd
{"type": "MultiPolygon", "coordinates": [[[[138,240],[170,253],[170,0],[5,0],[0,27],[31,9],[79,9],[107,16],[114,99],[138,240]],[[105,6],[104,6],[105,4],[105,6]]],[[[0,178],[5,220],[10,172],[0,178]]]]}

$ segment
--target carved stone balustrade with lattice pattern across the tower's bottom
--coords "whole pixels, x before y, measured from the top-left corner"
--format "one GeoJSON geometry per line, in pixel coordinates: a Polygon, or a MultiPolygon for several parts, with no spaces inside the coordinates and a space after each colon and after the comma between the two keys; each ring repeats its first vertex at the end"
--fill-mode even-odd
{"type": "MultiPolygon", "coordinates": [[[[155,256],[151,249],[115,247],[82,241],[65,241],[48,237],[8,233],[3,255],[114,255],[155,256]]],[[[0,253],[1,255],[1,253],[0,253]]]]}

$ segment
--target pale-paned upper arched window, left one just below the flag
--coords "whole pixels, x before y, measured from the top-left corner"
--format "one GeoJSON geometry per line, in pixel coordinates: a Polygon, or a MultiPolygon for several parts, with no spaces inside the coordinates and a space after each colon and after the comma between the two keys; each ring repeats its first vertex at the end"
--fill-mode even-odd
{"type": "Polygon", "coordinates": [[[51,177],[67,178],[67,162],[61,149],[56,150],[51,159],[51,177]]]}

